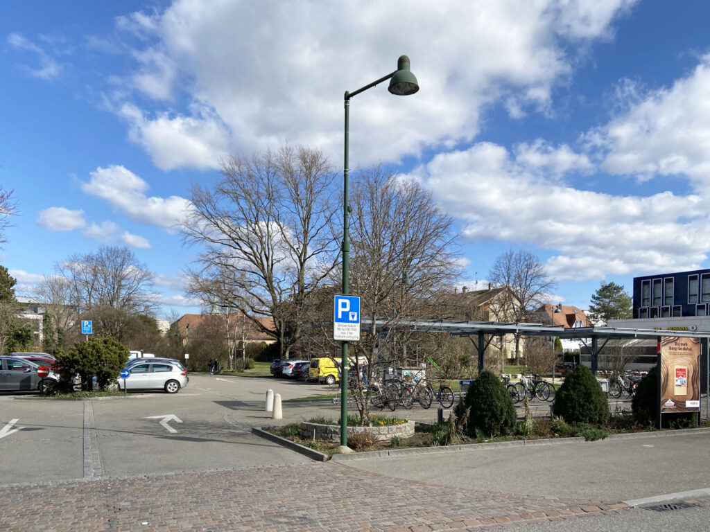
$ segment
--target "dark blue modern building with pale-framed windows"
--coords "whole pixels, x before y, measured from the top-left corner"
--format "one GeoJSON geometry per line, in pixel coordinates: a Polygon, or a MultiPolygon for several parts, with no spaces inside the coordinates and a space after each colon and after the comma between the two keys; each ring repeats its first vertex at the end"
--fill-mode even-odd
{"type": "Polygon", "coordinates": [[[633,317],[709,316],[710,270],[633,278],[633,317]]]}

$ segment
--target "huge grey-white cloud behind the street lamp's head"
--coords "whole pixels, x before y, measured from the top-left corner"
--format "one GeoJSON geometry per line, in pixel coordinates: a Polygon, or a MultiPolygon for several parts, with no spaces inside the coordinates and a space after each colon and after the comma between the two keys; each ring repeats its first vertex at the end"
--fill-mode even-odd
{"type": "Polygon", "coordinates": [[[117,27],[136,36],[126,85],[153,104],[192,105],[155,112],[136,99],[114,109],[163,169],[213,168],[224,152],[287,142],[340,157],[340,95],[395,70],[406,53],[420,92],[400,99],[383,84],[351,101],[351,161],[395,162],[475,138],[481,109],[498,101],[511,116],[546,111],[579,54],[608,38],[631,4],[178,0],[117,27]]]}

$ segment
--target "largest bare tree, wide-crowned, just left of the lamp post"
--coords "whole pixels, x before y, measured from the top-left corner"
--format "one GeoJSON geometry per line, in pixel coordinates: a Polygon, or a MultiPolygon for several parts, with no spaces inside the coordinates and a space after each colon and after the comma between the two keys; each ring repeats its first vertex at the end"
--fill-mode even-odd
{"type": "Polygon", "coordinates": [[[192,187],[182,233],[202,246],[191,291],[228,302],[280,343],[282,357],[302,336],[310,294],[337,264],[331,232],[334,173],[320,151],[230,157],[222,180],[192,187]],[[258,318],[273,318],[273,328],[258,318]]]}

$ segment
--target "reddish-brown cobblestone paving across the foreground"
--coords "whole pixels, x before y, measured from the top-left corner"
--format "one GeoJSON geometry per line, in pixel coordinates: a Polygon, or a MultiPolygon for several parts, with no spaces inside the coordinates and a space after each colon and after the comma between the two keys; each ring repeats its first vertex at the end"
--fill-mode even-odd
{"type": "Polygon", "coordinates": [[[0,530],[478,531],[625,512],[623,503],[442,487],[336,462],[0,487],[0,530]]]}

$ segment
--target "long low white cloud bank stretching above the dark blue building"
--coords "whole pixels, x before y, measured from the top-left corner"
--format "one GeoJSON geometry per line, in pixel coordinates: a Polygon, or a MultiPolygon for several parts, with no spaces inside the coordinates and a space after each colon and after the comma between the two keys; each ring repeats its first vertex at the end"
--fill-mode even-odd
{"type": "Polygon", "coordinates": [[[410,178],[464,221],[469,240],[555,250],[547,268],[558,280],[691,269],[710,252],[704,196],[577,190],[518,164],[492,143],[439,154],[410,178]]]}

